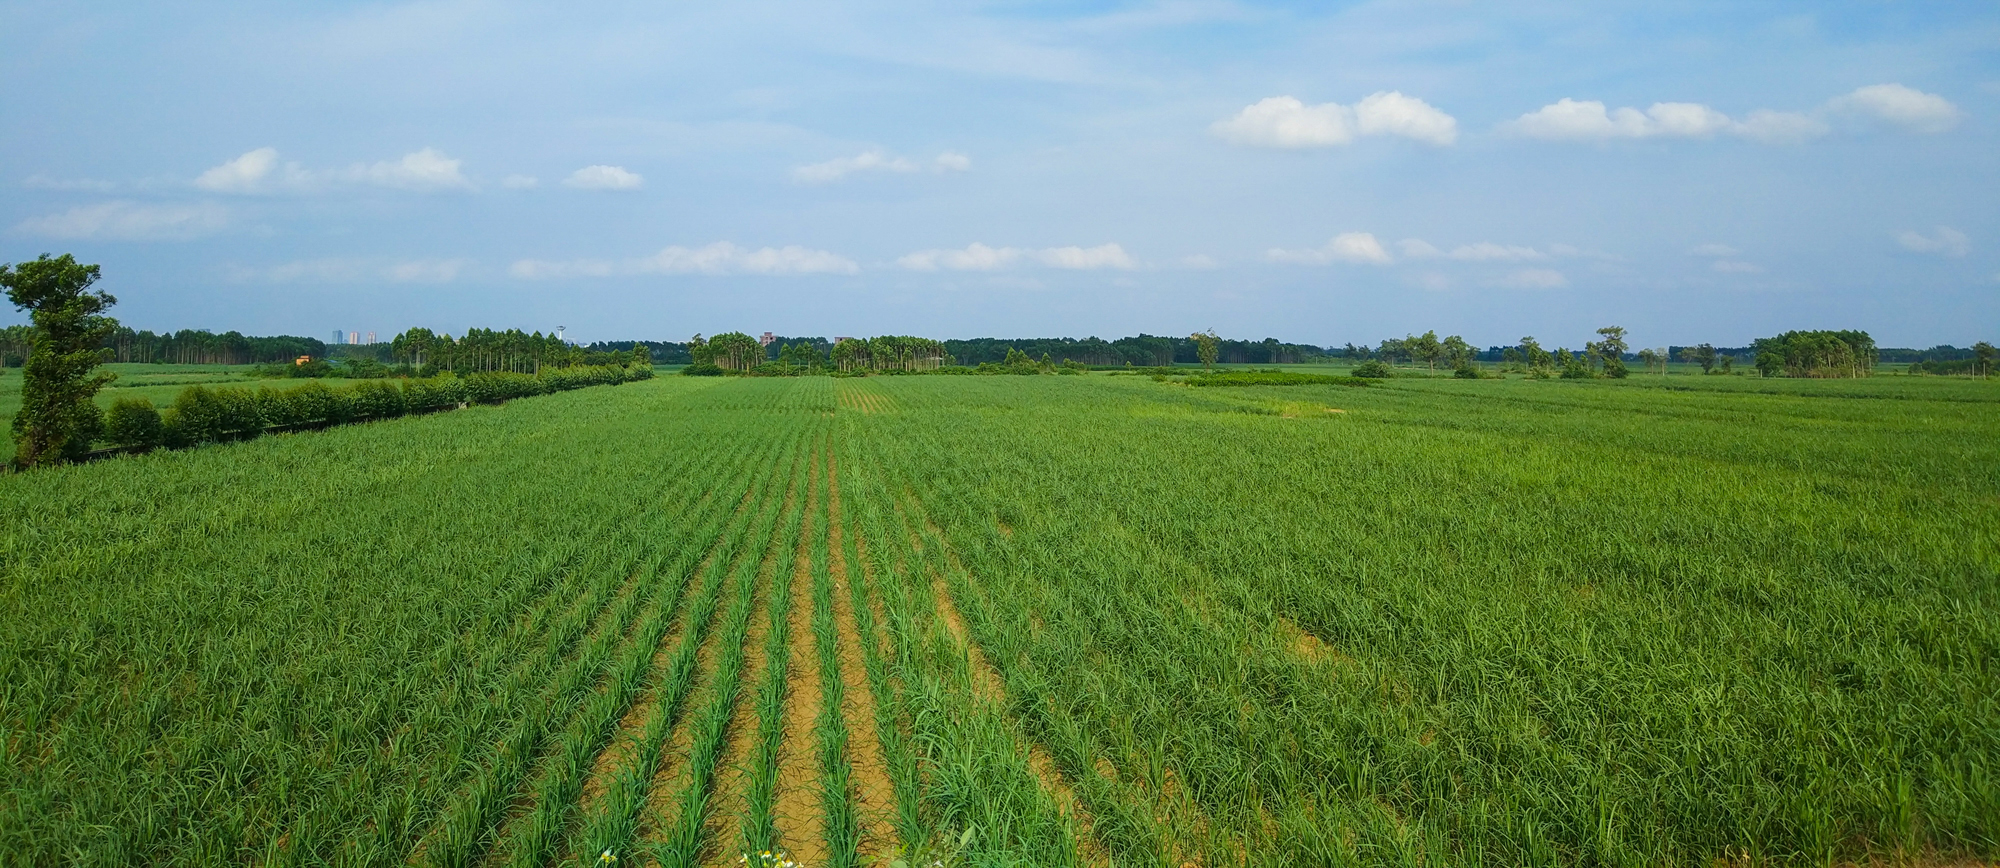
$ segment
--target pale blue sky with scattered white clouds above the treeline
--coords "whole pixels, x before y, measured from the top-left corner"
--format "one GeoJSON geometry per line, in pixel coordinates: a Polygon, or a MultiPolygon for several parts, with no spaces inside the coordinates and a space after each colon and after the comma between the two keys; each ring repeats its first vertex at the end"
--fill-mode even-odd
{"type": "Polygon", "coordinates": [[[1580,6],[0,2],[0,260],[322,338],[2000,338],[2000,8],[1580,6]]]}

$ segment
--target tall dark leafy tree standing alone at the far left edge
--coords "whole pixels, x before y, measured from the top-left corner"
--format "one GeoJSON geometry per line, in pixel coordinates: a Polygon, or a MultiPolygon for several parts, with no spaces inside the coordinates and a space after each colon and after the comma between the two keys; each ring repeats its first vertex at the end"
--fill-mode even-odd
{"type": "Polygon", "coordinates": [[[98,266],[70,254],[0,264],[6,298],[34,324],[20,412],[14,414],[14,462],[20,466],[80,458],[104,424],[94,398],[112,374],[94,370],[104,362],[104,338],[118,328],[104,310],[118,300],[104,290],[90,292],[94,282],[98,266]]]}

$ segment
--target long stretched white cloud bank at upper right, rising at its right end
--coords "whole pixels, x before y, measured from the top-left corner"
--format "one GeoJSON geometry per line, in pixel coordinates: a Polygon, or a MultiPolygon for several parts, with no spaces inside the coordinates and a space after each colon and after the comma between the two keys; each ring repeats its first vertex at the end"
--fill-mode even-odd
{"type": "Polygon", "coordinates": [[[1562,98],[1506,124],[1502,132],[1544,140],[1712,138],[1730,134],[1764,144],[1798,144],[1832,132],[1828,118],[1862,118],[1910,132],[1944,132],[1958,124],[1958,106],[1902,84],[1870,84],[1810,112],[1758,108],[1732,120],[1698,102],[1654,102],[1652,108],[1606,108],[1596,100],[1562,98]]]}

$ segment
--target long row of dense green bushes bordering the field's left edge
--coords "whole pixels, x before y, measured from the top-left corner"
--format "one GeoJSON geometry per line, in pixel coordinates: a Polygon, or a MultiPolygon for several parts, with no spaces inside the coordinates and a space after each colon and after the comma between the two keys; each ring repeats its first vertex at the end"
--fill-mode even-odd
{"type": "Polygon", "coordinates": [[[250,438],[266,430],[368,422],[406,414],[500,404],[512,398],[616,386],[646,380],[652,368],[570,366],[540,376],[484,372],[438,374],[410,380],[360,380],[332,388],[308,382],[298,388],[188,386],[164,412],[146,398],[118,398],[104,416],[102,438],[130,450],[184,448],[216,440],[250,438]]]}

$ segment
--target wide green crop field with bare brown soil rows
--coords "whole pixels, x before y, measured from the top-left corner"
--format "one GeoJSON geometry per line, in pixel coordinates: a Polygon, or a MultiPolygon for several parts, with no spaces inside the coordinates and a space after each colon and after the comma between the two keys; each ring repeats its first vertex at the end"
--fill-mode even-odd
{"type": "Polygon", "coordinates": [[[668,376],[0,476],[0,864],[1996,860],[1996,422],[668,376]]]}

